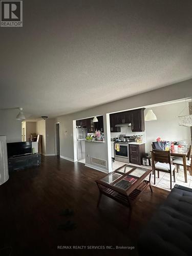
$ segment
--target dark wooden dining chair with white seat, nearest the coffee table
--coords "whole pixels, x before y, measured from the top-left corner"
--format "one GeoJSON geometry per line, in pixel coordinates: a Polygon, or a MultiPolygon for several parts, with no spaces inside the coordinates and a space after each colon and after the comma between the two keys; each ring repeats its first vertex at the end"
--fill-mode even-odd
{"type": "Polygon", "coordinates": [[[171,163],[170,151],[153,150],[152,151],[152,169],[154,170],[154,184],[156,179],[156,170],[159,178],[159,172],[170,174],[170,189],[172,189],[172,173],[175,182],[175,165],[171,163]]]}

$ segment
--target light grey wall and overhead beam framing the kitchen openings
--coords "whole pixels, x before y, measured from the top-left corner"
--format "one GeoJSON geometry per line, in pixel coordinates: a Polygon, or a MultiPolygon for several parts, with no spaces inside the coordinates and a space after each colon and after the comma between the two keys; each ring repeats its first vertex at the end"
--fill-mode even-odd
{"type": "MultiPolygon", "coordinates": [[[[104,123],[104,137],[105,141],[111,139],[111,134],[106,133],[106,113],[113,113],[118,111],[131,110],[134,108],[142,108],[143,106],[161,103],[165,101],[177,100],[184,98],[187,95],[188,97],[192,96],[192,79],[187,81],[179,82],[176,84],[172,84],[167,87],[163,87],[157,90],[153,90],[150,92],[142,93],[139,95],[135,95],[129,98],[117,100],[114,102],[106,103],[103,105],[99,105],[95,108],[84,110],[80,112],[76,112],[69,115],[63,115],[56,118],[57,122],[60,122],[60,147],[62,156],[68,157],[70,159],[74,159],[74,151],[73,151],[73,120],[88,118],[97,115],[103,115],[103,123],[104,123]]],[[[110,131],[110,129],[108,130],[110,131]]],[[[108,147],[111,152],[111,142],[103,143],[102,147],[102,156],[103,159],[108,162],[108,147]]],[[[111,161],[111,159],[110,159],[111,161]]]]}

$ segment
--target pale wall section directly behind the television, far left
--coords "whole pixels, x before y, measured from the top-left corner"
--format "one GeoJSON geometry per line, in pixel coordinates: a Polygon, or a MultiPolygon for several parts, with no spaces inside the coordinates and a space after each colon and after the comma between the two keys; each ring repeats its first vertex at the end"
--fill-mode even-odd
{"type": "Polygon", "coordinates": [[[22,141],[22,121],[16,120],[18,110],[0,110],[0,135],[7,136],[7,142],[22,141]]]}

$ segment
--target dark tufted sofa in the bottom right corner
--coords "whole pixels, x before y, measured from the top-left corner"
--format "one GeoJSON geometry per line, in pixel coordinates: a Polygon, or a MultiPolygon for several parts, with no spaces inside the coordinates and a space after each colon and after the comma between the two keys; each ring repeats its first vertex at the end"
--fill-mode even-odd
{"type": "Polygon", "coordinates": [[[139,255],[192,255],[192,189],[175,185],[142,231],[139,255]]]}

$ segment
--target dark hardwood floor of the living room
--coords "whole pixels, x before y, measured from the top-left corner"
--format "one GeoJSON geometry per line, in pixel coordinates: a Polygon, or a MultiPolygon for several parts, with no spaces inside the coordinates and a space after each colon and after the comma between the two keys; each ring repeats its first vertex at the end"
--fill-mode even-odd
{"type": "Polygon", "coordinates": [[[137,255],[137,238],[168,191],[148,188],[134,205],[131,224],[129,209],[105,196],[97,208],[96,179],[105,174],[57,157],[41,158],[41,166],[20,170],[0,186],[1,255],[137,255]],[[74,216],[62,217],[63,208],[74,216]],[[72,220],[76,229],[58,230],[72,220]],[[57,246],[135,246],[135,250],[57,249],[57,246]]]}

